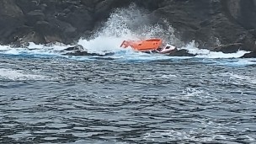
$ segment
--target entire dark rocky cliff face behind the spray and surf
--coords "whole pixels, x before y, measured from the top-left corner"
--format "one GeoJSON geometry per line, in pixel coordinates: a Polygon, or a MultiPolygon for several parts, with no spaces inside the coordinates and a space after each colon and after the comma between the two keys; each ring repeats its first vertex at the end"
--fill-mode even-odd
{"type": "Polygon", "coordinates": [[[146,8],[152,23],[167,19],[185,44],[195,40],[200,48],[224,52],[255,49],[255,0],[2,0],[0,43],[72,44],[131,3],[146,8]]]}

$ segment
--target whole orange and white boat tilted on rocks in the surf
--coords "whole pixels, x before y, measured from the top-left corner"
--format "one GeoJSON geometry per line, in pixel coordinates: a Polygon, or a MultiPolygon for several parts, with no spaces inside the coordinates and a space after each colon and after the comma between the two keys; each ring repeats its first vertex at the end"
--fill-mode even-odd
{"type": "Polygon", "coordinates": [[[120,47],[131,48],[135,51],[156,51],[157,53],[171,53],[176,51],[177,48],[173,45],[163,43],[161,39],[150,39],[150,40],[124,40],[120,47]]]}

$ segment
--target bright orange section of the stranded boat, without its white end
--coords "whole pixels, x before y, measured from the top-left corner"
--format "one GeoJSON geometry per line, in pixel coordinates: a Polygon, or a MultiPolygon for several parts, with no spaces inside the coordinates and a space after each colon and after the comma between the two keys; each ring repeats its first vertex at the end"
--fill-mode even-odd
{"type": "Polygon", "coordinates": [[[152,51],[156,50],[163,43],[160,39],[150,39],[150,40],[124,40],[120,47],[127,48],[131,46],[136,51],[152,51]]]}

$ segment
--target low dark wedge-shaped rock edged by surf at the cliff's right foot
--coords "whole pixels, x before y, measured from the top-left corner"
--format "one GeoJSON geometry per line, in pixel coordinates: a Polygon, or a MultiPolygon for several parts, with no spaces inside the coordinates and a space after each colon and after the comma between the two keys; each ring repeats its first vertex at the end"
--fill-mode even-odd
{"type": "Polygon", "coordinates": [[[212,48],[211,51],[222,51],[223,53],[234,53],[239,51],[242,48],[243,44],[236,43],[230,45],[220,45],[215,48],[212,48]]]}

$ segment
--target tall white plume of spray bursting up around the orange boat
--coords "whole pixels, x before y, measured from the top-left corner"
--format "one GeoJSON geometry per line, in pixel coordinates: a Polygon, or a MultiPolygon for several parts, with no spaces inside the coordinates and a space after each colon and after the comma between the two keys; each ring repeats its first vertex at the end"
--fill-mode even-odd
{"type": "Polygon", "coordinates": [[[89,52],[103,52],[121,51],[120,44],[123,40],[160,38],[172,45],[181,43],[167,20],[158,19],[162,21],[158,24],[152,18],[146,9],[138,8],[135,4],[128,8],[116,8],[91,40],[81,39],[78,45],[83,45],[89,52]]]}

